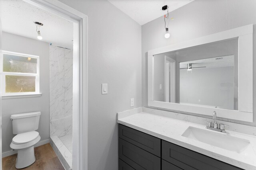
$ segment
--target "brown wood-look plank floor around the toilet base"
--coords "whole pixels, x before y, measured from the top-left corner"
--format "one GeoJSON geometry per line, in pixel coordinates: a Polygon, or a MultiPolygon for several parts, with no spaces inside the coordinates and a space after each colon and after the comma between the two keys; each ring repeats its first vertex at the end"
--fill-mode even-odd
{"type": "MultiPolygon", "coordinates": [[[[50,143],[35,148],[36,161],[22,170],[64,170],[50,143]]],[[[17,154],[2,158],[2,170],[16,170],[17,154]]]]}

